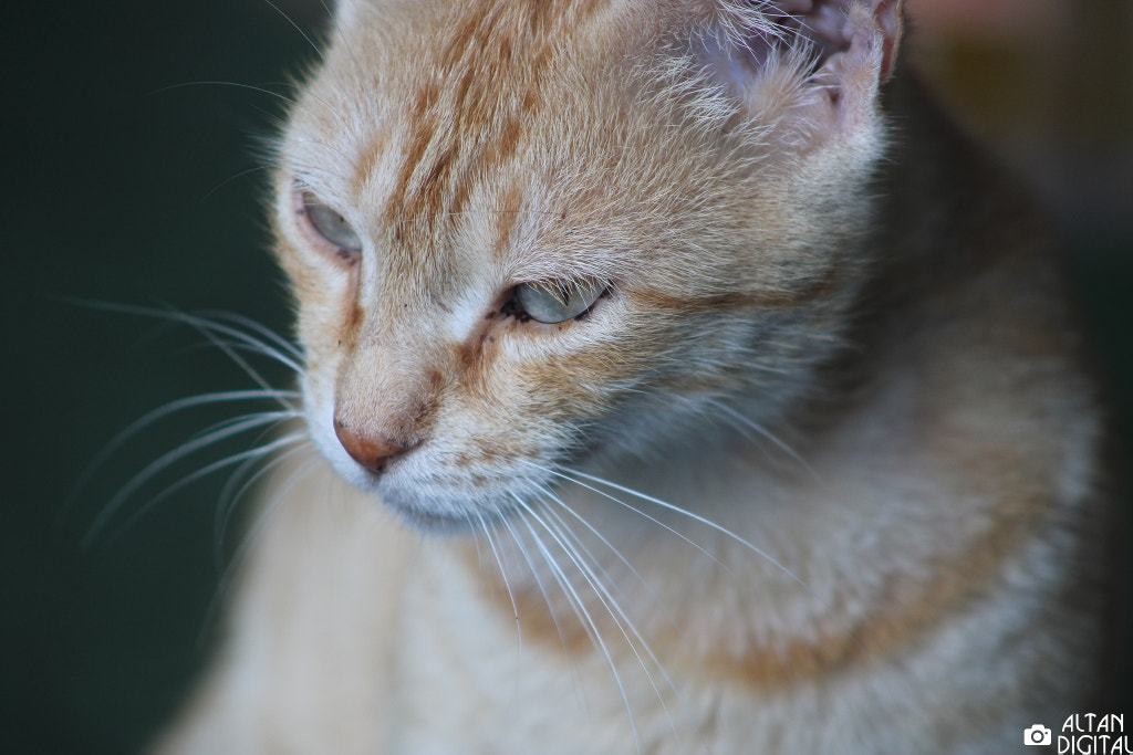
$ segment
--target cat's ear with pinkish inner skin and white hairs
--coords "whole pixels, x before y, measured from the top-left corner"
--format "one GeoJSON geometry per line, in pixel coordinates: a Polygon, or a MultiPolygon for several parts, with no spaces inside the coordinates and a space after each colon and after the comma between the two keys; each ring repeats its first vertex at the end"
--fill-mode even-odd
{"type": "Polygon", "coordinates": [[[716,0],[695,48],[751,115],[841,129],[875,111],[902,31],[903,0],[716,0]]]}

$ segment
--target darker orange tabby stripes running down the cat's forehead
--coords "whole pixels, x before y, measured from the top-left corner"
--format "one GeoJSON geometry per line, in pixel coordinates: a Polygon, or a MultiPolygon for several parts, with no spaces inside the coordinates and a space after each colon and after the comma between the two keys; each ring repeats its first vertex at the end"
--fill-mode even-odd
{"type": "Polygon", "coordinates": [[[404,162],[386,206],[399,239],[407,223],[425,224],[421,231],[451,223],[475,180],[514,154],[545,70],[597,5],[485,0],[467,11],[409,109],[404,162]]]}

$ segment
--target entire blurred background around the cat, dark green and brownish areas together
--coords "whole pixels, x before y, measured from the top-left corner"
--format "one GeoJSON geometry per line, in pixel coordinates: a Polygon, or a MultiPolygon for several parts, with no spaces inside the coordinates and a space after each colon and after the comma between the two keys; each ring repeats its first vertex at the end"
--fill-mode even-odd
{"type": "MultiPolygon", "coordinates": [[[[206,654],[210,606],[238,540],[215,531],[223,474],[131,518],[162,486],[147,488],[92,548],[82,540],[139,470],[231,407],[138,435],[66,501],[147,411],[252,385],[189,328],[71,299],[231,310],[287,332],[256,154],[281,113],[271,93],[286,97],[289,77],[316,59],[297,27],[318,38],[324,9],[276,5],[293,25],[265,0],[6,8],[5,753],[136,752],[206,654]]],[[[913,62],[1049,208],[1116,426],[1133,437],[1133,3],[908,7],[913,62]]]]}

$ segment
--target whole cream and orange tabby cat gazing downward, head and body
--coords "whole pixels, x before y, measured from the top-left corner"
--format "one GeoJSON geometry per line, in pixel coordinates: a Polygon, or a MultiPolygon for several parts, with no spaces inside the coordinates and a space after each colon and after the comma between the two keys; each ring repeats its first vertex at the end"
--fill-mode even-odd
{"type": "Polygon", "coordinates": [[[986,753],[1089,710],[1101,411],[903,28],[342,0],[273,181],[305,440],[156,750],[986,753]]]}

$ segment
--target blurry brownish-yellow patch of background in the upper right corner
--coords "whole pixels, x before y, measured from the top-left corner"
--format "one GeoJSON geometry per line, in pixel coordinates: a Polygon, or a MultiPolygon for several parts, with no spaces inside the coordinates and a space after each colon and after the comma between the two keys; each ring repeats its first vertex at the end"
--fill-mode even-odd
{"type": "Polygon", "coordinates": [[[1064,223],[1133,209],[1133,2],[906,0],[910,65],[1064,223]]]}

